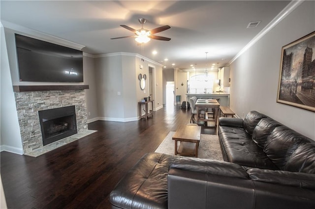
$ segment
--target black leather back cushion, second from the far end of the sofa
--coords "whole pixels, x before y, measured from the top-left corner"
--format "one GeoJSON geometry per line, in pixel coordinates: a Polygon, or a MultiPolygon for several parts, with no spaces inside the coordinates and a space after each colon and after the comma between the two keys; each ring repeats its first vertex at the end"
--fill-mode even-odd
{"type": "Polygon", "coordinates": [[[278,126],[281,124],[269,117],[261,119],[252,131],[252,140],[264,149],[269,134],[278,126]]]}

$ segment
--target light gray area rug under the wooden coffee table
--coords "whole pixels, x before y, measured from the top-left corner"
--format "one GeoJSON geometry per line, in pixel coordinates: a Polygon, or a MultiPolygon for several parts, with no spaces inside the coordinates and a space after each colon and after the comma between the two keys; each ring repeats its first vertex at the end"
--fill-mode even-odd
{"type": "MultiPolygon", "coordinates": [[[[174,134],[174,131],[170,131],[155,152],[174,155],[175,142],[172,140],[174,134]]],[[[198,157],[223,160],[218,135],[200,135],[198,157]]]]}

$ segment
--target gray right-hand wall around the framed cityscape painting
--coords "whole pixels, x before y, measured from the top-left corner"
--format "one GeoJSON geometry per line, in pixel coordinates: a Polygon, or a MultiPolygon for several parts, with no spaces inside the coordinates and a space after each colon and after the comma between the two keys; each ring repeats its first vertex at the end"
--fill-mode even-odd
{"type": "Polygon", "coordinates": [[[315,139],[315,112],[276,102],[281,48],[314,31],[314,20],[315,1],[304,1],[230,65],[230,107],[237,115],[257,110],[315,139]]]}

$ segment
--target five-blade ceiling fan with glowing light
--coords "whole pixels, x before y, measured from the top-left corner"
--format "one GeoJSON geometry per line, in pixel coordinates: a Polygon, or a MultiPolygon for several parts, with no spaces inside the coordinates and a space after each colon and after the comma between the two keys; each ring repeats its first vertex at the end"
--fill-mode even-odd
{"type": "Polygon", "coordinates": [[[129,27],[126,25],[120,25],[120,26],[126,28],[127,30],[134,32],[135,35],[123,36],[123,37],[117,37],[117,38],[111,38],[111,39],[135,37],[136,42],[138,42],[140,44],[147,43],[151,39],[156,39],[156,40],[161,40],[161,41],[171,40],[170,38],[167,38],[167,37],[153,35],[153,34],[156,34],[156,33],[159,33],[159,32],[162,32],[164,30],[171,28],[170,26],[167,26],[167,25],[166,26],[160,26],[160,27],[154,28],[152,30],[147,30],[147,29],[143,28],[143,24],[145,24],[147,22],[147,20],[144,18],[139,18],[139,22],[141,23],[142,27],[141,27],[141,29],[138,29],[138,30],[133,29],[132,27],[129,27]]]}

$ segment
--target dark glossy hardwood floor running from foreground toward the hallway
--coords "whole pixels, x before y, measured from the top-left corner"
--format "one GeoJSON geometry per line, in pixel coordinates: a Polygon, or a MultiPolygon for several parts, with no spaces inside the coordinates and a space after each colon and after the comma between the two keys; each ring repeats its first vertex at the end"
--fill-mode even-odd
{"type": "MultiPolygon", "coordinates": [[[[153,114],[149,120],[90,123],[97,132],[39,157],[1,152],[8,208],[110,208],[109,194],[126,171],[169,131],[189,124],[191,115],[179,106],[153,114]]],[[[217,134],[205,127],[201,133],[217,134]]]]}

